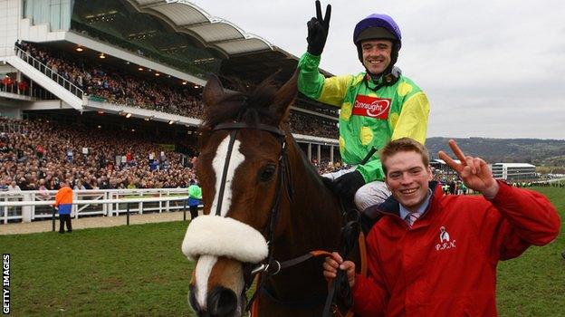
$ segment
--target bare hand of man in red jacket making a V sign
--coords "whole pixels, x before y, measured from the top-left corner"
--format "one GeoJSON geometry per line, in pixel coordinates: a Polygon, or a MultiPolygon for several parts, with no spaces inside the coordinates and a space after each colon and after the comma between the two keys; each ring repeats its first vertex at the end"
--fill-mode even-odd
{"type": "Polygon", "coordinates": [[[484,159],[465,156],[453,139],[450,139],[448,144],[461,163],[456,163],[455,160],[451,159],[441,150],[438,152],[439,158],[443,159],[449,167],[453,168],[457,174],[459,174],[459,177],[463,179],[466,187],[480,191],[483,193],[484,197],[495,197],[498,193],[499,186],[484,159]]]}

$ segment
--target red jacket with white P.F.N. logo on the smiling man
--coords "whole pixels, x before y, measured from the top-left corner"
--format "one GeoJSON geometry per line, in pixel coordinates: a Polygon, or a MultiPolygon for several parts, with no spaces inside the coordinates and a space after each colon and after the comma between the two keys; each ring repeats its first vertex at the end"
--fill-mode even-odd
{"type": "Polygon", "coordinates": [[[496,197],[443,196],[409,228],[389,198],[368,237],[369,276],[356,276],[361,316],[495,316],[496,264],[546,245],[560,218],[541,194],[499,182],[496,197]]]}

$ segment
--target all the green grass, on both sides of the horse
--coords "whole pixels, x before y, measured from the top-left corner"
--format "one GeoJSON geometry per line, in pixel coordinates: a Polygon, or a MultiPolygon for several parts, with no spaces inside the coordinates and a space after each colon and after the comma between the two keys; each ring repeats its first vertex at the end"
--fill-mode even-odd
{"type": "MultiPolygon", "coordinates": [[[[565,189],[536,188],[565,219],[565,189]]],[[[0,227],[1,228],[1,227],[0,227]]],[[[187,222],[75,230],[72,234],[0,235],[11,254],[14,316],[189,316],[193,265],[180,252],[187,222]]],[[[562,233],[499,264],[502,316],[562,316],[562,233]]]]}

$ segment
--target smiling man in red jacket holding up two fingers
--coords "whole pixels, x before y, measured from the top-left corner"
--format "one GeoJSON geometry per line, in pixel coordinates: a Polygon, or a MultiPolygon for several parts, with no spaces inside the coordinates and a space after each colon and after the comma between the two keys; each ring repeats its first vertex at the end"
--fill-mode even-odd
{"type": "Polygon", "coordinates": [[[439,156],[482,196],[444,196],[432,180],[426,148],[413,139],[390,142],[381,153],[392,196],[367,237],[369,276],[334,253],[324,276],[347,274],[353,311],[361,316],[496,315],[496,264],[546,245],[560,232],[560,218],[541,194],[493,178],[483,159],[461,163],[439,156]],[[429,182],[429,183],[428,183],[429,182]]]}

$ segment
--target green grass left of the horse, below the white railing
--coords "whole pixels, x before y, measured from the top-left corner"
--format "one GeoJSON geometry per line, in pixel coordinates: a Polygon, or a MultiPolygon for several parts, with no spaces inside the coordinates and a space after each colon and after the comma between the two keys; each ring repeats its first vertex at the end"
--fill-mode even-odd
{"type": "Polygon", "coordinates": [[[191,315],[187,223],[2,235],[14,316],[191,315]]]}

